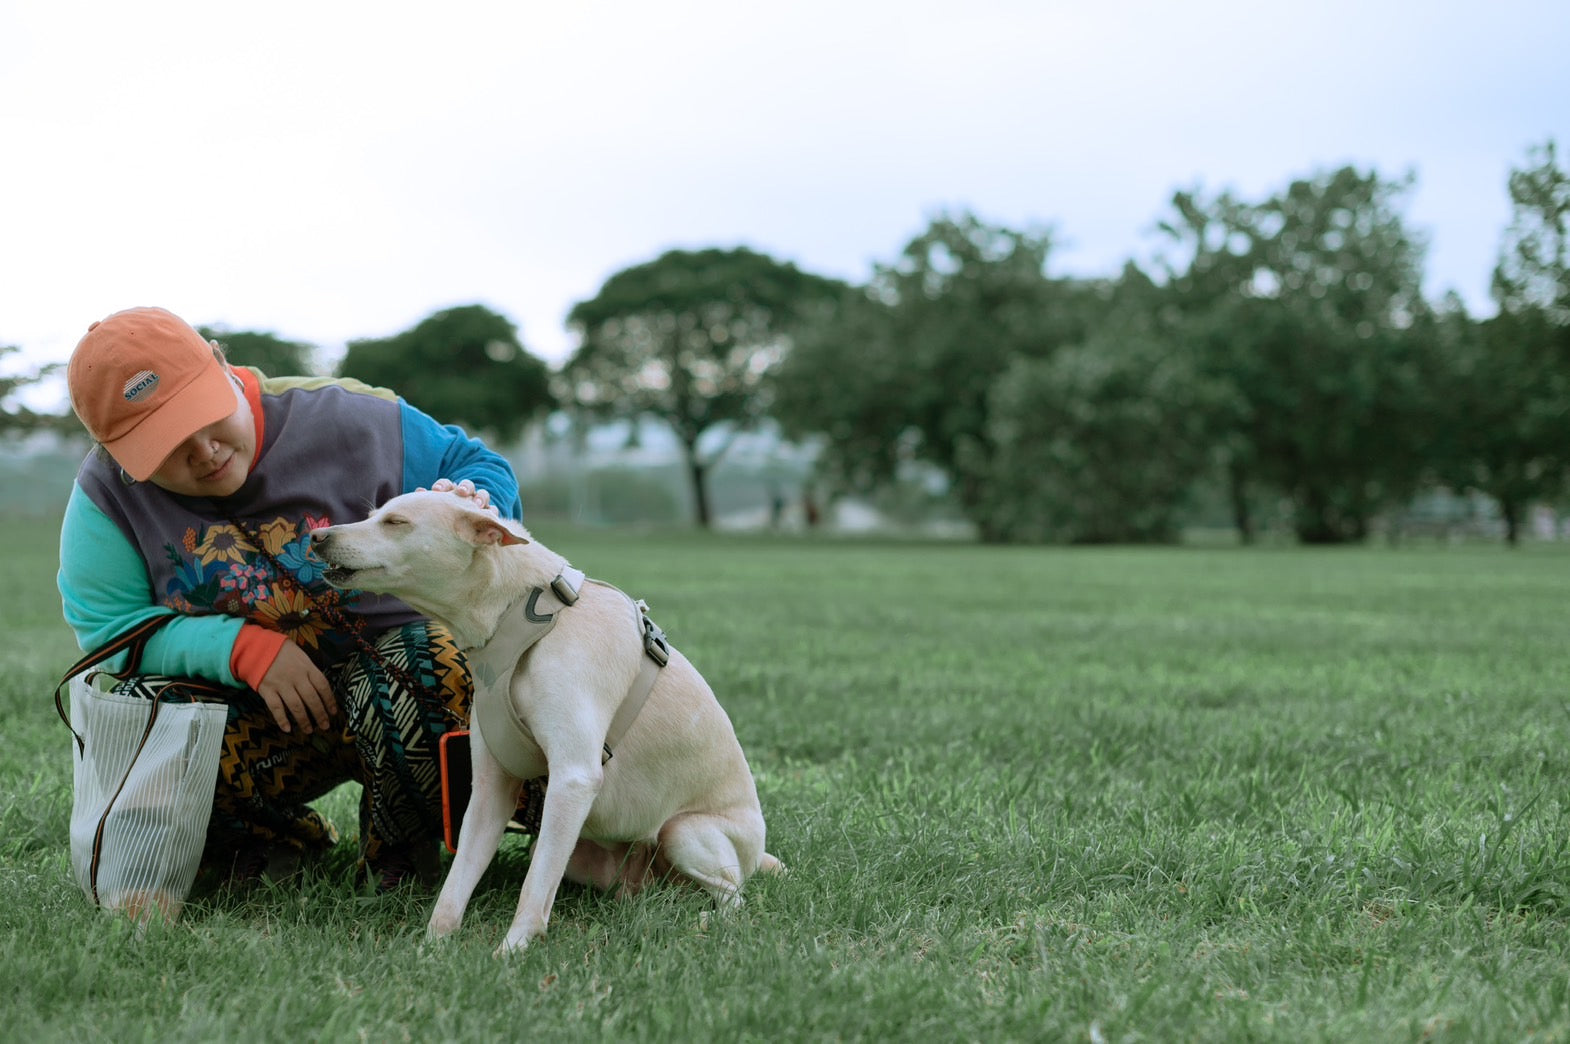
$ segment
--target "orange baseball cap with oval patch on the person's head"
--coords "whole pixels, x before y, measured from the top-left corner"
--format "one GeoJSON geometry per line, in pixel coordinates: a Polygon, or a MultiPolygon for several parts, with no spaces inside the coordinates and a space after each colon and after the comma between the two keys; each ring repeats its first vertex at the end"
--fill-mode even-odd
{"type": "Polygon", "coordinates": [[[162,308],[129,308],[88,327],[66,366],[71,408],[137,482],[193,433],[239,408],[212,345],[162,308]]]}

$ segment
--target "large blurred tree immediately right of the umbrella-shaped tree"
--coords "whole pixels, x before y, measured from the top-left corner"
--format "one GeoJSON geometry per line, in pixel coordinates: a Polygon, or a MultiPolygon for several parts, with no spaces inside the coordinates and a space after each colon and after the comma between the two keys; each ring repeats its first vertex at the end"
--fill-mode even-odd
{"type": "Polygon", "coordinates": [[[1093,284],[1046,275],[1050,237],[933,220],[865,292],[846,295],[780,367],[776,416],[829,436],[823,466],[851,488],[923,460],[955,482],[986,540],[992,441],[988,397],[1016,358],[1083,339],[1105,309],[1093,284]]]}

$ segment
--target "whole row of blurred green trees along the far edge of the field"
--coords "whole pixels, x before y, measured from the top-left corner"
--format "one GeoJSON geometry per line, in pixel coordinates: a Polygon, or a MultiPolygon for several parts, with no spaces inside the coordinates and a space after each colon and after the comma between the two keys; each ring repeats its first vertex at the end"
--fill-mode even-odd
{"type": "MultiPolygon", "coordinates": [[[[702,524],[713,468],[768,418],[821,449],[816,496],[944,498],[984,540],[1168,540],[1198,504],[1245,542],[1352,542],[1449,490],[1513,542],[1570,504],[1570,174],[1553,141],[1510,171],[1482,320],[1424,298],[1413,184],[1339,166],[1258,198],[1178,192],[1156,265],[1112,278],[1055,276],[1050,229],[962,212],[854,286],[672,250],[573,306],[554,375],[480,305],[353,341],[339,372],[498,440],[556,403],[663,421],[702,524]]],[[[203,333],[311,369],[311,345],[203,333]]],[[[46,422],[17,405],[46,375],[0,378],[0,429],[46,422]]]]}

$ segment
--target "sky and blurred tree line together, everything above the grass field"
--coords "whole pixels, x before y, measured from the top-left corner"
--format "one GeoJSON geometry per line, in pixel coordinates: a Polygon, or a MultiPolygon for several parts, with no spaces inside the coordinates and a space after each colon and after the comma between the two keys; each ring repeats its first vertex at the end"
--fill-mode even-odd
{"type": "Polygon", "coordinates": [[[6,5],[0,422],[162,305],[496,438],[535,518],[1548,535],[1567,38],[1543,0],[6,5]]]}

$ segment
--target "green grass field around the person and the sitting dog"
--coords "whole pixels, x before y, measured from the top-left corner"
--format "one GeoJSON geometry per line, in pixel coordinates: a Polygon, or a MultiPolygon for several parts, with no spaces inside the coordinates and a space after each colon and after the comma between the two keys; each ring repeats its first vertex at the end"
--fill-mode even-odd
{"type": "Polygon", "coordinates": [[[0,532],[5,1039],[1570,1038],[1570,551],[542,526],[713,681],[791,871],[733,918],[564,887],[498,961],[521,838],[446,945],[349,843],[176,926],[91,909],[57,529],[0,532]]]}

